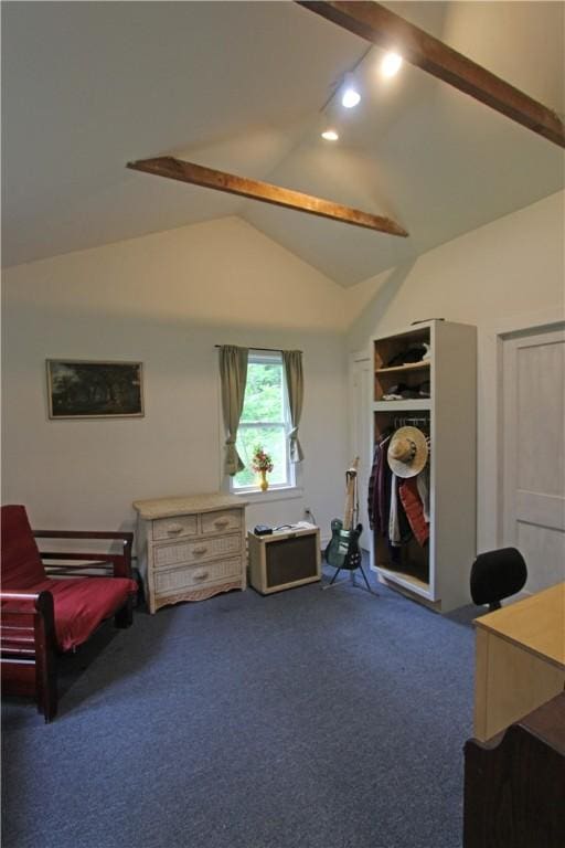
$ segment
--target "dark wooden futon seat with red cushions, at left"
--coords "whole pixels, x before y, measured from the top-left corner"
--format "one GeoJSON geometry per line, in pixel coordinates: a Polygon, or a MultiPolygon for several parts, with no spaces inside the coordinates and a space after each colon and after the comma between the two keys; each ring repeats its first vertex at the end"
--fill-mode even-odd
{"type": "MultiPolygon", "coordinates": [[[[2,693],[35,698],[45,722],[57,709],[56,658],[85,643],[114,616],[118,627],[132,622],[137,584],[131,580],[129,532],[32,531],[25,508],[1,509],[2,693]],[[119,545],[119,552],[46,551],[35,538],[119,545]],[[45,565],[44,560],[51,565],[45,565]]],[[[86,545],[85,545],[86,547],[86,545]]]]}

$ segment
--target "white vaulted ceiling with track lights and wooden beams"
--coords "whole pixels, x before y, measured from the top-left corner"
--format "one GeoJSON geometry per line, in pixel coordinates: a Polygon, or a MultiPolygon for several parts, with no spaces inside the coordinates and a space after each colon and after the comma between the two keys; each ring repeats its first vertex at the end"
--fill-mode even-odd
{"type": "MultiPolygon", "coordinates": [[[[564,3],[385,6],[565,113],[564,3]]],[[[3,265],[239,215],[351,286],[563,188],[563,149],[406,63],[383,78],[382,55],[292,2],[2,3],[3,265]],[[409,237],[126,170],[164,155],[409,237]]]]}

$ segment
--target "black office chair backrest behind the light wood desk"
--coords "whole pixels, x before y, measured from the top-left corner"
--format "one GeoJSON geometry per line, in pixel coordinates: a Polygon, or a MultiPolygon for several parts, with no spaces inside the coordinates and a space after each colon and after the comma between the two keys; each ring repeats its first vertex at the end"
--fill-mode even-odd
{"type": "Polygon", "coordinates": [[[500,610],[500,602],[524,587],[527,568],[515,548],[480,553],[471,568],[471,597],[477,606],[500,610]]]}

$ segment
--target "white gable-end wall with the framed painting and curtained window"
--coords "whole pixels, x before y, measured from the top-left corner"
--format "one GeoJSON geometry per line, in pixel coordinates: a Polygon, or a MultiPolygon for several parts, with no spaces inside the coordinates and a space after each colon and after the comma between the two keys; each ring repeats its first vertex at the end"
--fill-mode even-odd
{"type": "Polygon", "coordinates": [[[221,485],[215,343],[303,350],[303,497],[247,523],[342,509],[344,293],[239,219],[67,254],[3,277],[2,502],[35,527],[127,529],[131,501],[221,485]],[[143,418],[50,421],[45,359],[142,361],[143,418]]]}

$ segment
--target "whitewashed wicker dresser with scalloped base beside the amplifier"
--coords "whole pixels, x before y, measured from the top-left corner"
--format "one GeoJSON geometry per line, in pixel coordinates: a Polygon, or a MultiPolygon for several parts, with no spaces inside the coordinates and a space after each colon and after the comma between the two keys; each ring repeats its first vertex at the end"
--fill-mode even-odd
{"type": "Polygon", "coordinates": [[[234,495],[136,500],[137,554],[152,614],[246,586],[245,507],[234,495]]]}

